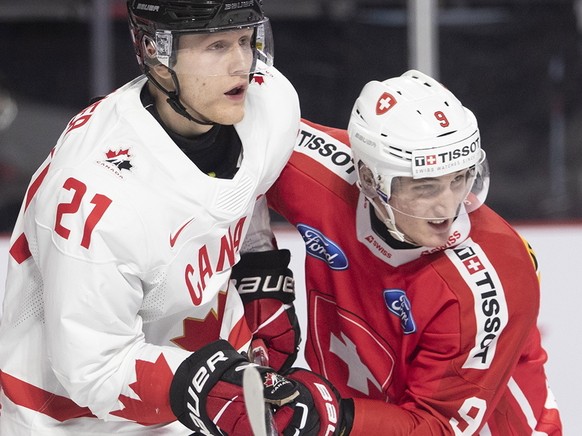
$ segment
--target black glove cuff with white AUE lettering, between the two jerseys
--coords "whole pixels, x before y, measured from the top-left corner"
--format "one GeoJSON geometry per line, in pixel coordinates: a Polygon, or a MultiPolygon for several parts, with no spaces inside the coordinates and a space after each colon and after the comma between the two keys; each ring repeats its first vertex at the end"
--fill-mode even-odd
{"type": "Polygon", "coordinates": [[[295,281],[288,268],[289,250],[245,253],[233,267],[230,278],[243,303],[261,298],[275,298],[285,304],[295,300],[295,281]]]}

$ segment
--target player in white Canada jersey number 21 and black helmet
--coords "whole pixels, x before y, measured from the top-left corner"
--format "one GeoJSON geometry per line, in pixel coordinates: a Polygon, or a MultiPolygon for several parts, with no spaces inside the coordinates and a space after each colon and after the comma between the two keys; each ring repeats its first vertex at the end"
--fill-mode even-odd
{"type": "Polygon", "coordinates": [[[229,278],[298,98],[261,1],[128,12],[144,75],[70,121],[10,241],[2,435],[250,434],[251,331],[229,278]]]}

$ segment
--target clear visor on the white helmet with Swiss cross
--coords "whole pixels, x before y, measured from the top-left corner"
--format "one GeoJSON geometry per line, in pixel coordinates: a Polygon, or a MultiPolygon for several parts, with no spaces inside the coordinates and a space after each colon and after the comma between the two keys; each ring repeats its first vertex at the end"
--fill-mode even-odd
{"type": "Polygon", "coordinates": [[[395,215],[437,221],[477,209],[485,201],[488,189],[489,167],[483,154],[478,164],[439,177],[394,177],[390,198],[379,194],[395,215]]]}

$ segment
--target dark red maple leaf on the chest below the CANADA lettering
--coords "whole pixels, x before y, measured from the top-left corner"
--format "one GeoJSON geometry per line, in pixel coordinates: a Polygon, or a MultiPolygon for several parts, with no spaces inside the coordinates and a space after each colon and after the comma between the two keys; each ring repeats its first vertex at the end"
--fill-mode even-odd
{"type": "Polygon", "coordinates": [[[204,345],[218,340],[225,304],[226,293],[220,292],[218,294],[218,313],[211,310],[204,319],[184,319],[184,335],[172,339],[172,342],[184,350],[196,351],[204,345]]]}

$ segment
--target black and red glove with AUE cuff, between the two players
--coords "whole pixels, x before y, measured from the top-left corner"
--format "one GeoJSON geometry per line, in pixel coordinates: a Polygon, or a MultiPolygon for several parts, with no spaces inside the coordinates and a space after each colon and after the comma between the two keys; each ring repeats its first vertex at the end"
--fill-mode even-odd
{"type": "Polygon", "coordinates": [[[231,275],[245,306],[247,324],[258,340],[253,342],[254,353],[265,355],[277,371],[293,365],[301,341],[290,260],[289,250],[245,253],[231,275]],[[257,350],[257,343],[266,350],[257,350]]]}

